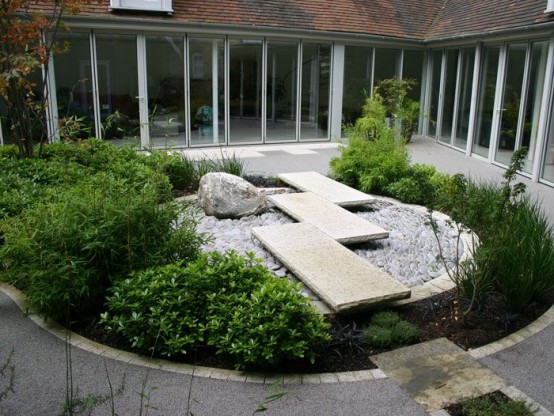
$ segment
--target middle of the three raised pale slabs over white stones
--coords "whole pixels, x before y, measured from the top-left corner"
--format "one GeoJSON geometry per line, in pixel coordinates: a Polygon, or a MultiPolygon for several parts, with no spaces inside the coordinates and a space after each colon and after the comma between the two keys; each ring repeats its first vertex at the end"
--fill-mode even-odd
{"type": "Polygon", "coordinates": [[[388,231],[312,192],[271,195],[269,201],[295,220],[307,222],[342,244],[387,238],[388,231]]]}

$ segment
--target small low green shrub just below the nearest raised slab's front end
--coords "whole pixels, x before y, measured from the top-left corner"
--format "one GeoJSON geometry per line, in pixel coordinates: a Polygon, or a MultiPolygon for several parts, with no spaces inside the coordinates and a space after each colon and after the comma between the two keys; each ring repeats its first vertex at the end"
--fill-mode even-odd
{"type": "Polygon", "coordinates": [[[419,328],[392,311],[377,312],[363,331],[365,342],[374,348],[410,345],[419,341],[419,328]]]}

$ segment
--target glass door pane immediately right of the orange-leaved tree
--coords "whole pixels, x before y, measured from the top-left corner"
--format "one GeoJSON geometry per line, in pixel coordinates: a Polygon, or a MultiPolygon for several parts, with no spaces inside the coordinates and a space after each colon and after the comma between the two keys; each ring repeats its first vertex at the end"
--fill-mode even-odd
{"type": "Polygon", "coordinates": [[[70,45],[69,51],[56,55],[54,61],[60,139],[99,136],[94,127],[90,37],[88,33],[64,33],[58,40],[70,45]],[[78,126],[77,131],[70,131],[70,125],[78,126]]]}

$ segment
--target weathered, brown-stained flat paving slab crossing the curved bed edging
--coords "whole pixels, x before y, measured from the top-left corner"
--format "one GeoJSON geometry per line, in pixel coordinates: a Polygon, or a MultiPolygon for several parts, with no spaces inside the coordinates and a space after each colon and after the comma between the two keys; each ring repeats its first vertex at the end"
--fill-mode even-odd
{"type": "Polygon", "coordinates": [[[506,386],[504,380],[446,338],[374,355],[371,360],[428,412],[506,386]]]}

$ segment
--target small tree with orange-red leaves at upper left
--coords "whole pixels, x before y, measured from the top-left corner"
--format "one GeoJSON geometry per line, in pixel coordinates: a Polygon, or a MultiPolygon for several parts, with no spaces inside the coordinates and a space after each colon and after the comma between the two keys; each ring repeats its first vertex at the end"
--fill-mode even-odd
{"type": "Polygon", "coordinates": [[[48,141],[48,62],[52,54],[68,50],[56,41],[65,28],[62,17],[93,2],[98,0],[50,0],[42,13],[33,11],[37,2],[32,0],[0,0],[0,96],[8,109],[5,125],[21,157],[32,157],[35,144],[42,150],[48,141]],[[33,81],[37,72],[38,82],[33,81]]]}

